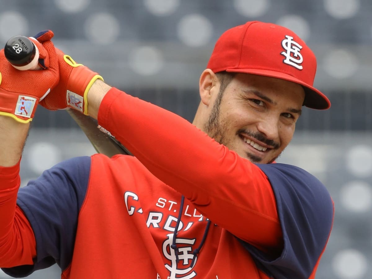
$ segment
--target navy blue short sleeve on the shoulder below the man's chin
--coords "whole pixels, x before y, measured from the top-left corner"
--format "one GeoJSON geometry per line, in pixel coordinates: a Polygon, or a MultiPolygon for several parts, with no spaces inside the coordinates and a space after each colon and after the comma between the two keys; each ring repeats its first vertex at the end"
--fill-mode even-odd
{"type": "Polygon", "coordinates": [[[257,266],[276,279],[309,278],[333,223],[333,201],[310,173],[288,164],[258,164],[273,188],[284,246],[277,258],[242,241],[257,266]]]}

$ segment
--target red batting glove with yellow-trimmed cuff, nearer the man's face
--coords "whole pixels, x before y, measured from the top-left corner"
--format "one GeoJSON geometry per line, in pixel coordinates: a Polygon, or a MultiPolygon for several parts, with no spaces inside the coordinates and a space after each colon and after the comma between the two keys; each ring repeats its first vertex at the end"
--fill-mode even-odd
{"type": "Polygon", "coordinates": [[[88,67],[77,64],[57,48],[56,55],[60,67],[60,81],[40,104],[49,110],[73,108],[88,115],[88,91],[94,81],[103,81],[103,78],[88,67]]]}

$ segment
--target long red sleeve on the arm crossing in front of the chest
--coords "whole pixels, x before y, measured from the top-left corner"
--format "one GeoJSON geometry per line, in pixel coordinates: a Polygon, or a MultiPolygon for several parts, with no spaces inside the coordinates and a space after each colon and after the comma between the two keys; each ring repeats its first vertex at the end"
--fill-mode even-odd
{"type": "Polygon", "coordinates": [[[275,197],[259,167],[180,116],[115,88],[98,121],[212,222],[262,250],[281,245],[275,197]]]}

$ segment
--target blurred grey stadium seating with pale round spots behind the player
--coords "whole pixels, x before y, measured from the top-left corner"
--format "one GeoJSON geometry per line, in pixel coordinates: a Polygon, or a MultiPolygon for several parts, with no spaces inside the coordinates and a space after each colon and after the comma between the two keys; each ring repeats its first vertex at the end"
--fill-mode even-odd
{"type": "MultiPolygon", "coordinates": [[[[315,86],[332,107],[305,108],[278,161],[317,176],[335,203],[333,231],[316,278],[367,279],[372,274],[371,15],[371,0],[3,0],[0,42],[51,29],[58,48],[107,83],[191,122],[199,76],[222,32],[250,20],[294,30],[317,56],[315,86]]],[[[22,185],[61,160],[93,153],[66,112],[39,107],[21,164],[22,185]]],[[[60,278],[60,270],[54,265],[28,278],[60,278]]]]}

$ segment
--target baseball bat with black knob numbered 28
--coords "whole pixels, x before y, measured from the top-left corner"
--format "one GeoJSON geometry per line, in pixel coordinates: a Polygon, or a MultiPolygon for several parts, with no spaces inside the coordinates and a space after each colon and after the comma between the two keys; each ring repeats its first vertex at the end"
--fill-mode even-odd
{"type": "MultiPolygon", "coordinates": [[[[42,70],[38,64],[39,50],[25,36],[14,36],[10,38],[5,44],[4,55],[9,63],[18,70],[42,70]]],[[[109,157],[116,154],[132,155],[109,131],[98,125],[96,119],[74,109],[67,109],[67,112],[84,132],[98,153],[109,157]]]]}

